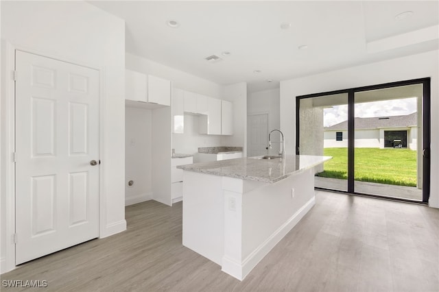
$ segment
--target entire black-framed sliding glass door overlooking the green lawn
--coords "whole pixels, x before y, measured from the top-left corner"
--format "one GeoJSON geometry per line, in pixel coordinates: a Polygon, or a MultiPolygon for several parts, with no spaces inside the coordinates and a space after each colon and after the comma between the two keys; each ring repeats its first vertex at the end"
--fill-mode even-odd
{"type": "Polygon", "coordinates": [[[296,99],[296,154],[333,156],[316,187],[427,202],[429,78],[296,99]]]}

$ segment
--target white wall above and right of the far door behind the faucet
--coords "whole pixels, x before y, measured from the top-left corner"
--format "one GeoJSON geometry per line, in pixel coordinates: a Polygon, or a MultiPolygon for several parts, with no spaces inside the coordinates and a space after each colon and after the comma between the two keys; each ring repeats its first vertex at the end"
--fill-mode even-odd
{"type": "MultiPolygon", "coordinates": [[[[247,114],[268,114],[268,132],[279,129],[280,119],[280,89],[270,89],[249,93],[247,97],[247,114]]],[[[273,141],[279,141],[278,132],[273,133],[273,141]]],[[[250,141],[247,141],[250,143],[250,141]]],[[[250,145],[248,145],[250,147],[250,145]]],[[[275,151],[280,149],[279,145],[272,146],[275,151]]]]}

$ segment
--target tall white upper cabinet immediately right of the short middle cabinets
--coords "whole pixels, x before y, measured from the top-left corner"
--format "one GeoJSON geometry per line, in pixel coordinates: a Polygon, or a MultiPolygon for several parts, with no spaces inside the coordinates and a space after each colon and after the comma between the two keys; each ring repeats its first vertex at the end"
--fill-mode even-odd
{"type": "Polygon", "coordinates": [[[221,135],[221,99],[206,97],[207,114],[198,120],[198,133],[221,135]]]}

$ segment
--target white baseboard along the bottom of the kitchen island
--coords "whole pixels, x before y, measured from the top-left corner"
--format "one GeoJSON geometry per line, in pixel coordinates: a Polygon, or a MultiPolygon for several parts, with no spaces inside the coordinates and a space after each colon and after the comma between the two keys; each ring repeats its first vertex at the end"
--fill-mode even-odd
{"type": "Polygon", "coordinates": [[[257,247],[242,263],[237,263],[226,256],[222,258],[222,271],[237,278],[244,280],[248,273],[266,256],[276,244],[283,239],[287,233],[296,226],[298,221],[304,217],[309,210],[316,204],[316,198],[312,197],[302,206],[292,217],[278,228],[267,240],[257,247]]]}

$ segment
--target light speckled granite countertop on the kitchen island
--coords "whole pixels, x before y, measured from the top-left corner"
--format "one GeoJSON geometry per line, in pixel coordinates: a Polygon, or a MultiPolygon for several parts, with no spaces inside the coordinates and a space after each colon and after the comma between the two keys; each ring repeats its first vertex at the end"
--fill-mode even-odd
{"type": "Polygon", "coordinates": [[[320,165],[331,158],[331,156],[287,155],[283,160],[281,158],[261,159],[259,156],[259,158],[200,162],[193,165],[180,165],[177,168],[242,180],[274,183],[291,175],[302,173],[302,171],[320,165]]]}

